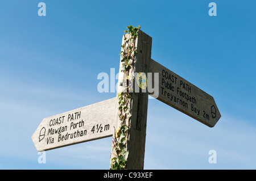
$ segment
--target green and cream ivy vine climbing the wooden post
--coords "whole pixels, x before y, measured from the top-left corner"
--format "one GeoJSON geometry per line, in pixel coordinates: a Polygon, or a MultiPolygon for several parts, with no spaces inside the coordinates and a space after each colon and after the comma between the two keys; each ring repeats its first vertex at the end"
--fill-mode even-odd
{"type": "MultiPolygon", "coordinates": [[[[135,47],[135,40],[138,37],[140,26],[127,26],[125,30],[124,43],[121,45],[121,72],[128,74],[133,72],[133,63],[137,54],[137,47],[135,47]],[[128,35],[128,36],[127,36],[128,35]]],[[[120,86],[125,86],[121,92],[118,92],[118,116],[120,127],[115,129],[115,137],[113,138],[112,153],[114,157],[111,159],[110,170],[124,170],[126,169],[127,157],[129,151],[127,150],[127,142],[129,141],[129,129],[131,118],[131,98],[133,90],[129,90],[129,81],[134,77],[130,74],[127,82],[121,82],[120,86]]]]}

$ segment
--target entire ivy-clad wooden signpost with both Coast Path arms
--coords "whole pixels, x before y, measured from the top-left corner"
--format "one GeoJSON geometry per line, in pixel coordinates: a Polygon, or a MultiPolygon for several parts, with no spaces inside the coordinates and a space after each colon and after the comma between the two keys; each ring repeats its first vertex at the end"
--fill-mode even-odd
{"type": "MultiPolygon", "coordinates": [[[[154,85],[154,89],[160,90],[156,91],[159,95],[154,95],[154,98],[209,127],[214,127],[220,119],[221,114],[213,97],[152,60],[152,38],[139,28],[131,30],[130,27],[129,34],[122,39],[117,98],[43,119],[31,137],[38,151],[113,136],[110,168],[142,170],[147,127],[147,88],[150,87],[146,83],[148,73],[156,73],[156,77],[151,77],[152,82],[149,82],[154,85]],[[122,74],[123,71],[125,74],[122,74]],[[126,86],[122,86],[123,83],[126,86]]],[[[152,92],[150,94],[153,95],[152,92]]]]}

